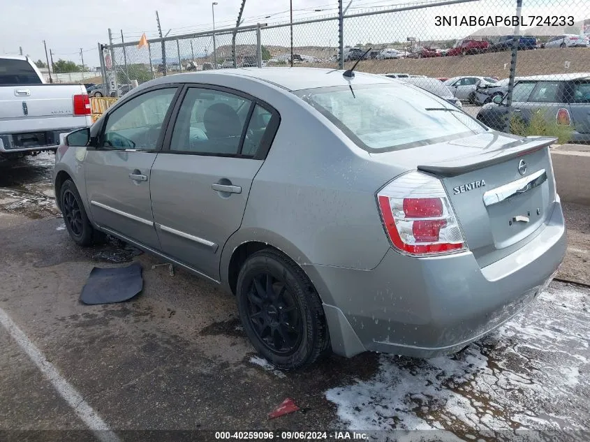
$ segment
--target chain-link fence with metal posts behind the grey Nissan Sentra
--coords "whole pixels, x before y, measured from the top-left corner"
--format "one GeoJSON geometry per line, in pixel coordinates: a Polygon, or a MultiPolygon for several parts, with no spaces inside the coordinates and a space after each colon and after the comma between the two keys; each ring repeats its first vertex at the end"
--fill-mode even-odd
{"type": "Polygon", "coordinates": [[[447,0],[362,9],[339,1],[338,13],[312,20],[156,38],[141,49],[113,44],[110,75],[121,94],[134,80],[185,71],[356,64],[432,91],[499,131],[590,142],[586,3],[447,0]]]}

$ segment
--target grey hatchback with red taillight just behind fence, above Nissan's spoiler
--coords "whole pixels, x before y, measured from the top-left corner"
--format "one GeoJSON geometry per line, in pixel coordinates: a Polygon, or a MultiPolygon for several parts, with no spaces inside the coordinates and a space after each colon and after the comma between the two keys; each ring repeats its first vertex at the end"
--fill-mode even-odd
{"type": "MultiPolygon", "coordinates": [[[[570,142],[590,142],[590,73],[523,77],[512,91],[512,112],[525,124],[540,110],[547,121],[570,126],[570,142]]],[[[483,106],[477,119],[503,130],[508,108],[506,97],[483,106]]]]}

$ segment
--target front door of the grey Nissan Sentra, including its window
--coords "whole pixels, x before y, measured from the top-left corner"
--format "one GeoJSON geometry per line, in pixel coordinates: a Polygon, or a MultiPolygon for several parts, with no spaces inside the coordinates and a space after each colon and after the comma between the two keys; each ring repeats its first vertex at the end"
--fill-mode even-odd
{"type": "Polygon", "coordinates": [[[148,90],[108,112],[84,160],[94,222],[153,249],[160,244],[149,197],[150,169],[177,89],[148,90]]]}

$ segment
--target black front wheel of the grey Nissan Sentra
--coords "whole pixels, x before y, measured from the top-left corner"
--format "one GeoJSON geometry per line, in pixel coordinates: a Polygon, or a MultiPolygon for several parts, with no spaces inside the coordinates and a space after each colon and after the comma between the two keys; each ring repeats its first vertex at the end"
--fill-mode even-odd
{"type": "Polygon", "coordinates": [[[71,179],[66,179],[64,184],[61,184],[59,207],[64,216],[66,229],[76,244],[88,247],[104,237],[103,233],[91,225],[80,193],[71,179]]]}

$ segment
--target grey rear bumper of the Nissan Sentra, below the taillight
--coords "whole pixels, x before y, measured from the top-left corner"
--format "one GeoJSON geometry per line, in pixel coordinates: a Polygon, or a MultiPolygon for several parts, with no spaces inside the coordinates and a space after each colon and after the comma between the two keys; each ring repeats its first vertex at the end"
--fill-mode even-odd
{"type": "Polygon", "coordinates": [[[521,249],[483,268],[469,251],[411,258],[393,249],[368,271],[304,266],[322,296],[334,352],[432,358],[491,332],[526,307],[563,260],[559,200],[540,229],[521,249]]]}

